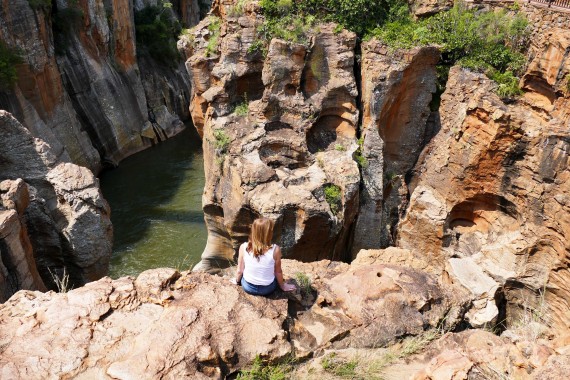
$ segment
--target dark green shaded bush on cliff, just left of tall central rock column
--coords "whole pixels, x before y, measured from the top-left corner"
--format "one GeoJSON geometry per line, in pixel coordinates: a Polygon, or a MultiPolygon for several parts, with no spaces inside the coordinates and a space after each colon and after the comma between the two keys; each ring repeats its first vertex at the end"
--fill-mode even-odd
{"type": "Polygon", "coordinates": [[[172,3],[162,1],[135,13],[138,54],[149,55],[167,66],[176,65],[180,60],[176,41],[182,31],[170,8],[172,3]]]}

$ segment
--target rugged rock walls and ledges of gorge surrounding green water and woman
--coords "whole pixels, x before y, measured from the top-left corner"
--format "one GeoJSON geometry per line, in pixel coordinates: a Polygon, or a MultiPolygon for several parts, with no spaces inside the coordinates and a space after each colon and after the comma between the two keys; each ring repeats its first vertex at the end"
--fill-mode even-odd
{"type": "MultiPolygon", "coordinates": [[[[570,12],[363,1],[355,19],[355,4],[321,3],[215,0],[204,17],[196,1],[2,7],[0,40],[27,60],[0,96],[2,377],[566,376],[570,12]],[[176,65],[135,44],[148,6],[160,25],[195,25],[176,65]],[[58,55],[63,9],[82,22],[58,55]],[[92,171],[190,117],[200,263],[101,278],[112,210],[92,171]],[[227,278],[258,216],[276,222],[292,294],[227,278]]],[[[145,174],[160,178],[125,179],[145,174]]]]}

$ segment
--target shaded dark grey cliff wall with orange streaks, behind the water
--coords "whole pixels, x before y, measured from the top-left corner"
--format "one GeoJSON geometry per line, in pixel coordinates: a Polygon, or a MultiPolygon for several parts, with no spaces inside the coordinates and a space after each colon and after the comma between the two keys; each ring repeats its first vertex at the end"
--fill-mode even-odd
{"type": "MultiPolygon", "coordinates": [[[[139,64],[132,1],[53,3],[4,7],[0,39],[25,62],[15,86],[0,93],[0,108],[56,155],[95,172],[184,128],[186,70],[151,58],[139,64]]],[[[197,23],[197,1],[176,5],[187,25],[197,23]]]]}

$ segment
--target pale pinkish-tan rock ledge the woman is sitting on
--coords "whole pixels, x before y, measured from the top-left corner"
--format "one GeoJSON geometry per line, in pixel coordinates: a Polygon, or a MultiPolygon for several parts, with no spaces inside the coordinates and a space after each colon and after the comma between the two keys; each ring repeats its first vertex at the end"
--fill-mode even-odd
{"type": "Polygon", "coordinates": [[[433,277],[396,266],[284,260],[284,268],[311,276],[312,293],[251,296],[228,278],[173,269],[65,294],[20,291],[0,305],[0,373],[222,378],[256,355],[276,361],[331,345],[383,345],[461,306],[433,277]],[[288,317],[288,309],[297,311],[288,317]]]}

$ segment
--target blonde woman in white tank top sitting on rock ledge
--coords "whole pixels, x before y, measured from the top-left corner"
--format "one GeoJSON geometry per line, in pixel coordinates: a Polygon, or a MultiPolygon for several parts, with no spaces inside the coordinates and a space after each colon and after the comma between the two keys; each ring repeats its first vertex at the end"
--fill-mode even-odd
{"type": "Polygon", "coordinates": [[[273,237],[272,220],[256,219],[251,225],[247,243],[239,247],[236,282],[249,294],[265,296],[277,286],[283,291],[295,290],[295,285],[283,281],[281,270],[281,248],[271,244],[273,237]]]}

